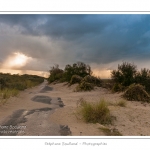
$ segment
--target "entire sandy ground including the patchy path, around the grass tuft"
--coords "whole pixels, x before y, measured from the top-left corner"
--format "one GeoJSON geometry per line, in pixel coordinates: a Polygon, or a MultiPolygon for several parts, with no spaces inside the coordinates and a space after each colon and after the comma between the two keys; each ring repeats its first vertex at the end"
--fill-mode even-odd
{"type": "Polygon", "coordinates": [[[124,136],[150,135],[150,104],[126,101],[126,107],[115,105],[121,93],[97,87],[91,92],[74,92],[77,85],[47,85],[45,81],[27,89],[0,106],[0,135],[72,135],[104,136],[100,128],[114,129],[124,136]],[[86,123],[76,113],[79,100],[98,102],[105,99],[115,120],[112,125],[86,123]],[[13,127],[16,129],[12,129],[13,127]],[[8,134],[9,130],[15,131],[8,134]],[[2,129],[3,128],[3,129],[2,129]],[[2,131],[6,130],[6,133],[2,131]],[[17,131],[18,132],[17,132],[17,131]]]}

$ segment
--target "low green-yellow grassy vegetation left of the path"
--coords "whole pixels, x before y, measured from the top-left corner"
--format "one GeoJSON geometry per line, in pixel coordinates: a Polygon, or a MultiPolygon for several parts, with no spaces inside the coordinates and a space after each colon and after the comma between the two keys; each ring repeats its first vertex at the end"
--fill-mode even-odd
{"type": "Polygon", "coordinates": [[[11,75],[0,73],[0,101],[16,96],[19,91],[36,86],[44,81],[43,77],[36,75],[11,75]]]}

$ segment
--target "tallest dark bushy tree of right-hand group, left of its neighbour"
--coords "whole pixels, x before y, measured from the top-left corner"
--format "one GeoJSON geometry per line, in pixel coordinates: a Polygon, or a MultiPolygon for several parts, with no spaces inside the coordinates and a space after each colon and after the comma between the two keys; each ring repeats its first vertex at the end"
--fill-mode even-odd
{"type": "Polygon", "coordinates": [[[122,86],[129,86],[135,82],[137,67],[134,64],[123,62],[118,65],[118,70],[111,72],[112,79],[122,86]]]}

